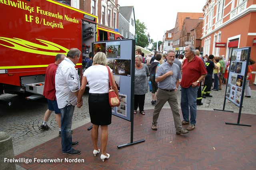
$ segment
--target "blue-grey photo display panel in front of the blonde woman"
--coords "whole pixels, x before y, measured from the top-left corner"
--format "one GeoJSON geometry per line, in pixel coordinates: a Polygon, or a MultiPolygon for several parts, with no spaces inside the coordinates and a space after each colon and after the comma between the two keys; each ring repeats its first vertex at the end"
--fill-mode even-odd
{"type": "Polygon", "coordinates": [[[120,106],[112,107],[112,115],[131,121],[134,107],[135,42],[132,39],[93,43],[94,55],[101,51],[113,70],[119,91],[120,106]]]}

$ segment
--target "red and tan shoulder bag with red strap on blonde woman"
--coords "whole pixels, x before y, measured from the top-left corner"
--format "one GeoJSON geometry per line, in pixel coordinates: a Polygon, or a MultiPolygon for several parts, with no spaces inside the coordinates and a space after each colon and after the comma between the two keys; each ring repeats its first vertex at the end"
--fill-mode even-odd
{"type": "Polygon", "coordinates": [[[111,107],[116,107],[120,104],[119,97],[116,95],[114,89],[112,88],[112,79],[111,79],[111,73],[108,66],[106,66],[108,69],[108,78],[109,78],[109,89],[108,89],[108,101],[111,107]]]}

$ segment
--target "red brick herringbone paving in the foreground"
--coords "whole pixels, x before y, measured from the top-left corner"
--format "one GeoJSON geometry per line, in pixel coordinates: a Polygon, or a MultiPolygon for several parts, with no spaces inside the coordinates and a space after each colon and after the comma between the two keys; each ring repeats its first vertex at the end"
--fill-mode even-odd
{"type": "MultiPolygon", "coordinates": [[[[252,127],[226,125],[236,123],[237,114],[198,110],[196,128],[188,134],[176,135],[170,109],[162,109],[158,119],[158,130],[151,129],[153,110],[146,115],[134,115],[134,141],[145,142],[118,149],[117,146],[130,142],[130,122],[112,117],[109,126],[107,152],[110,158],[102,162],[100,154],[93,156],[90,123],[74,129],[74,146],[82,154],[64,155],[60,138],[56,137],[40,144],[15,158],[63,159],[59,163],[19,163],[27,169],[66,170],[254,170],[256,168],[256,115],[242,114],[240,123],[252,127]],[[65,162],[65,158],[84,163],[65,162]]],[[[181,111],[180,111],[181,113],[181,111]]],[[[187,127],[184,126],[184,127],[187,127]]],[[[99,140],[100,141],[100,140],[99,140]]],[[[99,142],[100,143],[100,142],[99,142]]]]}

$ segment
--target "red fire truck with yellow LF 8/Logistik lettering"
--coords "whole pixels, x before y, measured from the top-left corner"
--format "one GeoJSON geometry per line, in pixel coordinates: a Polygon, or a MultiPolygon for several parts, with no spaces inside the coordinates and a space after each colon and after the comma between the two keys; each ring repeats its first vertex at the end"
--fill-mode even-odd
{"type": "Polygon", "coordinates": [[[82,51],[76,65],[82,75],[97,16],[54,0],[1,0],[0,13],[0,94],[42,94],[46,67],[72,47],[82,51]]]}

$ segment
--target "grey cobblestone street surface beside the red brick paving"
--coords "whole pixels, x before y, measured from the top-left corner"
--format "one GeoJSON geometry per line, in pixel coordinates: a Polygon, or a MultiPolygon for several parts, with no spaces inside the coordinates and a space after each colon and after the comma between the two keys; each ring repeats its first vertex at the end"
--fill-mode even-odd
{"type": "MultiPolygon", "coordinates": [[[[224,93],[226,88],[223,86],[221,91],[212,91],[213,97],[202,99],[204,105],[198,106],[199,110],[222,109],[224,103],[224,93]]],[[[180,91],[178,91],[178,103],[180,106],[180,91]]],[[[72,129],[80,127],[90,122],[88,112],[88,92],[83,96],[84,105],[81,109],[75,108],[72,120],[72,129]]],[[[153,109],[151,105],[151,93],[146,94],[144,110],[153,109]]],[[[256,91],[252,90],[252,97],[244,97],[242,113],[256,114],[254,107],[256,103],[256,91]]],[[[44,112],[47,109],[47,101],[38,99],[27,101],[22,96],[4,94],[0,96],[0,131],[6,132],[12,137],[14,154],[20,154],[34,146],[42,144],[58,136],[58,126],[55,121],[55,114],[52,113],[48,120],[50,130],[42,131],[39,126],[42,124],[44,112]],[[9,106],[9,102],[11,105],[9,106]]],[[[168,103],[164,108],[170,108],[168,103]]],[[[238,116],[239,107],[226,100],[225,110],[234,111],[234,116],[238,116]]],[[[181,113],[180,113],[181,114],[181,113]]],[[[240,123],[243,117],[241,116],[240,123]]]]}

